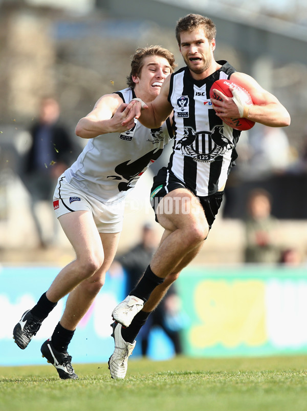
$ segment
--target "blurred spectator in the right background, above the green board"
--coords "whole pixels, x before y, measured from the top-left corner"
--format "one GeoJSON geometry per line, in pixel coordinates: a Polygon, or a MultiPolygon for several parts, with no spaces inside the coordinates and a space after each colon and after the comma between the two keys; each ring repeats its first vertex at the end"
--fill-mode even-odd
{"type": "Polygon", "coordinates": [[[263,189],[252,190],[247,212],[245,262],[276,263],[279,258],[277,219],[271,215],[270,194],[263,189]]]}

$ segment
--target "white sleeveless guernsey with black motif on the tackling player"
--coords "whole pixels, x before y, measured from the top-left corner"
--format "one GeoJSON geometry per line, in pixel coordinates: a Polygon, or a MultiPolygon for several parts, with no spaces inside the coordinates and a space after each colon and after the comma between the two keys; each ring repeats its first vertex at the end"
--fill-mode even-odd
{"type": "MultiPolygon", "coordinates": [[[[135,97],[131,88],[117,94],[124,102],[135,97]]],[[[64,175],[73,187],[102,203],[116,203],[135,187],[171,138],[169,118],[159,129],[147,129],[135,120],[131,130],[91,138],[64,175]]]]}

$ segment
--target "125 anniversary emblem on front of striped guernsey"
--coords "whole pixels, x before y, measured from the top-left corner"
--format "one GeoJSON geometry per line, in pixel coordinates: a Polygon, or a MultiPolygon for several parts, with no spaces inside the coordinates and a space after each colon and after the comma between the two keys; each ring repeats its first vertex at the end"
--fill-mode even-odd
{"type": "Polygon", "coordinates": [[[223,129],[224,126],[215,126],[212,132],[195,132],[191,127],[186,127],[184,137],[177,142],[175,150],[181,150],[182,154],[195,161],[214,161],[216,156],[234,148],[233,141],[223,134],[223,129]]]}

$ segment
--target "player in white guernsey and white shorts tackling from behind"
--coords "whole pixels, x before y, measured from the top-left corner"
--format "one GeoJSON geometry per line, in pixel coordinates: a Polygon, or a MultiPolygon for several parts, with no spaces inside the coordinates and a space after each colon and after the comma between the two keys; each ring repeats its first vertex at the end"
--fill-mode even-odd
{"type": "MultiPolygon", "coordinates": [[[[99,98],[81,118],[76,134],[87,145],[58,179],[53,206],[76,253],[74,261],[56,276],[37,304],[15,325],[13,337],[25,349],[57,302],[69,294],[64,313],[41,353],[62,379],[76,379],[68,354],[74,331],[100,291],[117,251],[123,220],[123,202],[139,176],[162,153],[173,136],[170,119],[147,129],[132,119],[122,126],[123,110],[132,98],[155,99],[176,67],[173,54],[161,46],[140,48],[131,60],[128,88],[99,98]]],[[[160,287],[161,299],[175,277],[160,287]]],[[[103,315],[103,313],[102,313],[103,315]]],[[[116,345],[124,344],[116,341],[116,345]]],[[[129,343],[126,351],[131,352],[129,343]]]]}

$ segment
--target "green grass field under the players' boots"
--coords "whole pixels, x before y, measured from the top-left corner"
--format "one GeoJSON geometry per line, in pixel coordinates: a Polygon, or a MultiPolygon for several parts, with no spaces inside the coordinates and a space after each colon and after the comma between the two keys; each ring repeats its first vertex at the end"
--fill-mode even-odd
{"type": "Polygon", "coordinates": [[[307,357],[130,359],[125,380],[107,364],[0,367],[1,411],[306,411],[307,357]]]}

